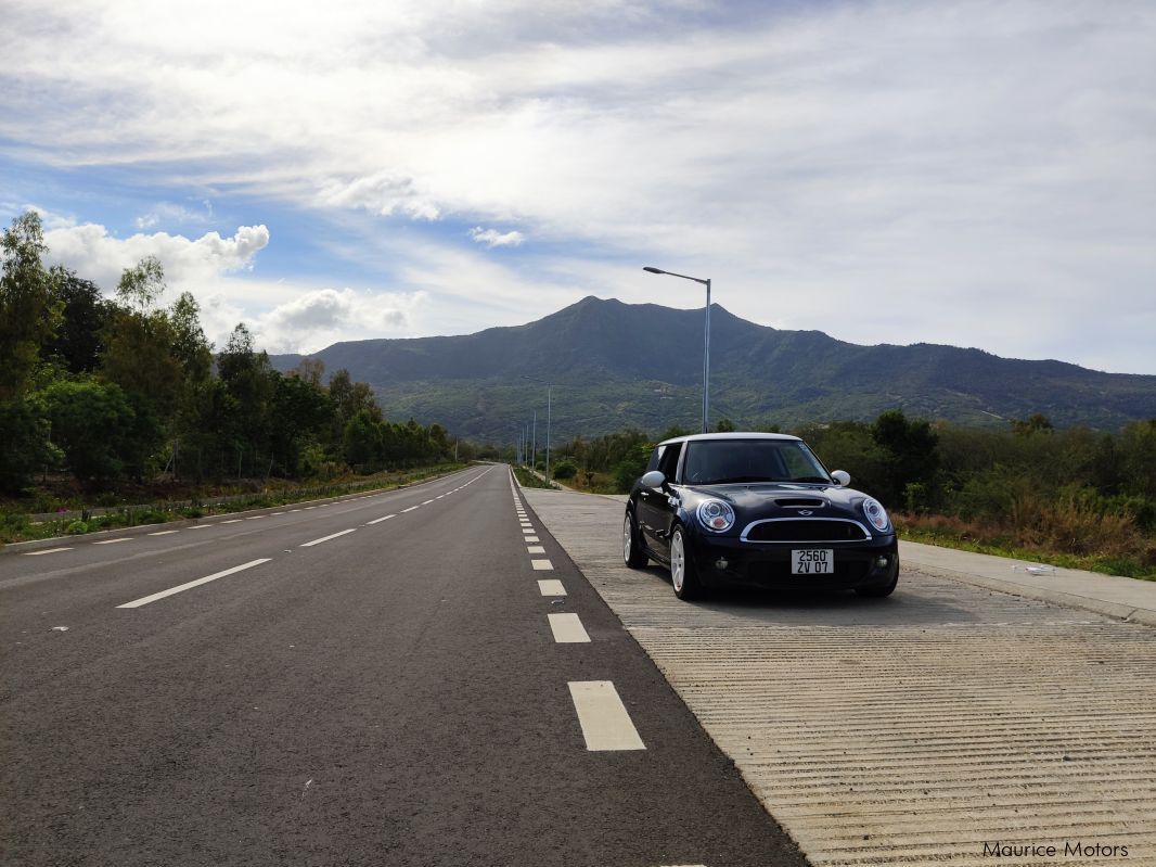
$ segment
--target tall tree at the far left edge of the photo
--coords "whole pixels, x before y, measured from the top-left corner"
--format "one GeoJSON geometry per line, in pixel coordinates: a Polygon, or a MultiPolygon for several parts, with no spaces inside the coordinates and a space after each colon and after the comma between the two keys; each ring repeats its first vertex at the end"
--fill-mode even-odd
{"type": "Polygon", "coordinates": [[[40,217],[31,210],[13,220],[0,243],[0,401],[28,392],[40,347],[60,323],[59,276],[40,261],[46,250],[40,217]]]}

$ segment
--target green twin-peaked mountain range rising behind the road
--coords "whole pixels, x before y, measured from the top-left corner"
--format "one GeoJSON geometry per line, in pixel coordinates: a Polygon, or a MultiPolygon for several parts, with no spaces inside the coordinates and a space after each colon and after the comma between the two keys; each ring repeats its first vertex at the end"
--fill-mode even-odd
{"type": "MultiPolygon", "coordinates": [[[[512,440],[534,410],[553,437],[598,436],[702,420],[703,313],[587,297],[534,323],[476,334],[334,343],[311,357],[369,383],[390,418],[512,440]]],[[[291,370],[303,356],[272,356],[291,370]]],[[[1006,425],[1043,413],[1057,427],[1114,430],[1156,417],[1156,376],[1058,361],[1001,358],[916,343],[859,346],[780,331],[711,307],[711,420],[740,428],[868,421],[885,409],[961,424],[1006,425]]],[[[539,432],[541,439],[543,433],[539,432]]]]}

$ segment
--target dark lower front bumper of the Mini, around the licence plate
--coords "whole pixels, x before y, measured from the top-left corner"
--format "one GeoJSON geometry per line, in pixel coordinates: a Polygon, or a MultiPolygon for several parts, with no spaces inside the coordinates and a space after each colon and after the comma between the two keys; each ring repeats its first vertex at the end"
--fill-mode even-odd
{"type": "Polygon", "coordinates": [[[699,580],[707,587],[747,586],[769,590],[854,590],[890,584],[899,569],[896,536],[857,542],[743,542],[738,538],[696,534],[688,546],[699,580]],[[830,575],[791,575],[791,551],[828,548],[830,575]]]}

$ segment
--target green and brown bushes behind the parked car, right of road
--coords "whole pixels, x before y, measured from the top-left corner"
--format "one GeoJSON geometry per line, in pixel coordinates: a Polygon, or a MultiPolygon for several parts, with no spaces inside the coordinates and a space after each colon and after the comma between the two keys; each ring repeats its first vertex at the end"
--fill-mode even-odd
{"type": "MultiPolygon", "coordinates": [[[[568,486],[625,492],[653,443],[688,432],[575,439],[555,455],[576,467],[568,486]]],[[[905,539],[1156,580],[1156,420],[1113,433],[1057,430],[1037,414],[1001,431],[896,409],[791,432],[877,496],[905,539]]]]}

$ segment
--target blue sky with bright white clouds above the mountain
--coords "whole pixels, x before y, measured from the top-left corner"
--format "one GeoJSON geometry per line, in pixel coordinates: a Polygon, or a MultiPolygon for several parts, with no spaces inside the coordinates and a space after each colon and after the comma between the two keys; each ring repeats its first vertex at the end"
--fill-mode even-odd
{"type": "Polygon", "coordinates": [[[587,295],[1156,375],[1149,0],[3,0],[0,220],[222,347],[587,295]]]}

